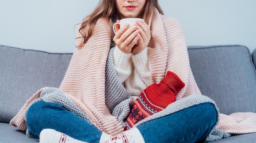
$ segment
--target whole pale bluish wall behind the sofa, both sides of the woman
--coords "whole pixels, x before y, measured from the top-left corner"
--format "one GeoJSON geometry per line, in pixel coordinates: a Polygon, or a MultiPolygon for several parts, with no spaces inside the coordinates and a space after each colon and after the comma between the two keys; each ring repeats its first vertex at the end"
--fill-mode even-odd
{"type": "MultiPolygon", "coordinates": [[[[98,0],[0,0],[0,45],[73,53],[74,26],[98,0]]],[[[187,45],[241,44],[256,48],[255,0],[159,0],[177,19],[187,45]]]]}

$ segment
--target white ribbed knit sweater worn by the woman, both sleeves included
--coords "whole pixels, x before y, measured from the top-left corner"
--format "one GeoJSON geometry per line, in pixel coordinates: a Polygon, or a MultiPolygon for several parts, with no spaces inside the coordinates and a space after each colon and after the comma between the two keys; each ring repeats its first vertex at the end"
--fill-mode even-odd
{"type": "Polygon", "coordinates": [[[146,87],[153,84],[148,66],[147,47],[139,54],[133,55],[122,52],[116,46],[113,60],[117,76],[132,95],[133,101],[146,87]]]}

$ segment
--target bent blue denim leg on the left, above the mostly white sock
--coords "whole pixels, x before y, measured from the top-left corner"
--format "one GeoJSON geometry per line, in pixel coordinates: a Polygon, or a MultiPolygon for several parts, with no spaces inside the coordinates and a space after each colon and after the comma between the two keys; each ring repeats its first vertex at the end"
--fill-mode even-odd
{"type": "Polygon", "coordinates": [[[27,116],[29,133],[39,138],[43,129],[54,129],[85,142],[99,142],[102,132],[93,124],[58,103],[31,105],[27,116]]]}

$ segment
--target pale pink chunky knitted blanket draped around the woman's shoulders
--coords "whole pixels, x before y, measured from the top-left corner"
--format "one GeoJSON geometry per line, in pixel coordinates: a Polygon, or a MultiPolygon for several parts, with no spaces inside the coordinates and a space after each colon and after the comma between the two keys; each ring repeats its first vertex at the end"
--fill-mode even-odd
{"type": "MultiPolygon", "coordinates": [[[[159,83],[167,71],[172,71],[185,83],[185,87],[176,96],[177,100],[194,93],[201,94],[189,65],[187,47],[179,22],[160,15],[156,9],[151,16],[149,25],[151,40],[148,45],[148,61],[152,83],[159,83]]],[[[77,45],[82,40],[82,36],[78,32],[79,27],[80,25],[75,34],[77,45]]],[[[105,104],[105,66],[110,51],[111,36],[104,20],[99,19],[95,27],[93,35],[87,43],[82,48],[75,49],[59,88],[85,112],[98,129],[107,134],[116,135],[123,132],[124,128],[117,118],[111,115],[105,104]]],[[[27,129],[24,112],[30,103],[39,98],[43,89],[40,89],[25,103],[11,120],[11,125],[17,126],[21,130],[27,129]]],[[[249,132],[247,132],[247,126],[239,126],[248,123],[247,121],[241,123],[247,116],[240,113],[237,115],[242,115],[242,118],[238,119],[235,116],[232,116],[232,119],[229,116],[221,118],[219,128],[229,131],[236,127],[229,133],[256,132],[255,122],[253,126],[251,120],[248,121],[251,127],[249,132]],[[229,125],[230,122],[232,122],[232,127],[229,125]]],[[[255,115],[255,113],[251,113],[250,117],[254,116],[255,120],[255,115]]]]}

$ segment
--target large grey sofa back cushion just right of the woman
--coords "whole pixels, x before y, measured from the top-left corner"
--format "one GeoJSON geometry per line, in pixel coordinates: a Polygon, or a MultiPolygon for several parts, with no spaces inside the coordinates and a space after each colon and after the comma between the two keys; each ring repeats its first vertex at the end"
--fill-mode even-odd
{"type": "Polygon", "coordinates": [[[245,46],[188,46],[191,70],[220,113],[256,112],[256,71],[245,46]]]}

